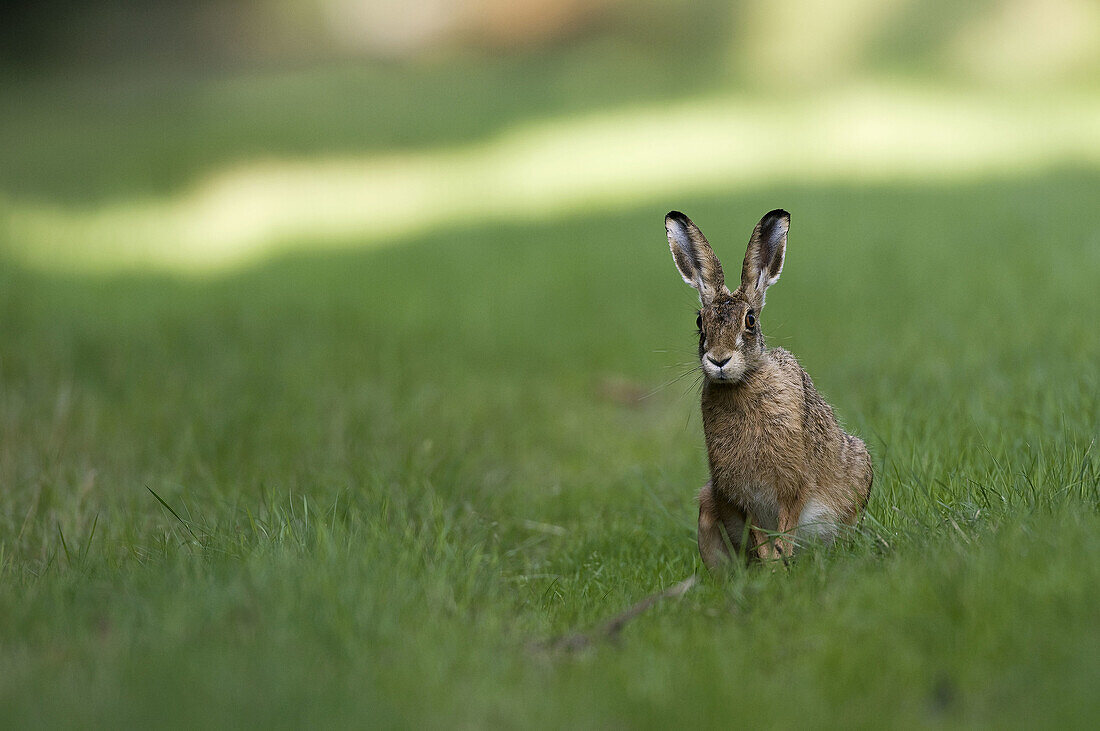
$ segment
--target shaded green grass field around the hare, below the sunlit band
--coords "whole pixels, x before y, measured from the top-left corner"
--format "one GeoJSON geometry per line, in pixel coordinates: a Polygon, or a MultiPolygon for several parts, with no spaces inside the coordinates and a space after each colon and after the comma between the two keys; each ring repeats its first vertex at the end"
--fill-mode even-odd
{"type": "Polygon", "coordinates": [[[204,276],[9,262],[0,724],[1092,726],[1098,189],[714,190],[204,276]],[[540,649],[702,572],[662,217],[728,268],[779,206],[763,332],[868,442],[865,521],[540,649]]]}

